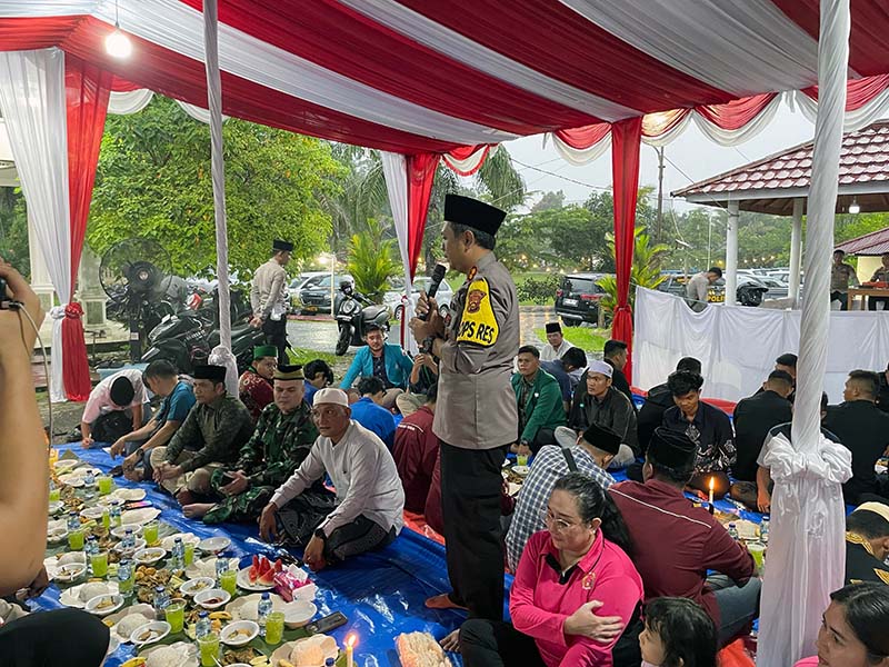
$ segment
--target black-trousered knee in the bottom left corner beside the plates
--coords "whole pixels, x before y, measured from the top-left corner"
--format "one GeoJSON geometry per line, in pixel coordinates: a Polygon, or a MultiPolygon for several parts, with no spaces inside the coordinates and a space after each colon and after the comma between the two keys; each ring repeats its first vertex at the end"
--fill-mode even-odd
{"type": "Polygon", "coordinates": [[[0,627],[3,667],[99,667],[109,629],[80,609],[30,614],[0,627]]]}

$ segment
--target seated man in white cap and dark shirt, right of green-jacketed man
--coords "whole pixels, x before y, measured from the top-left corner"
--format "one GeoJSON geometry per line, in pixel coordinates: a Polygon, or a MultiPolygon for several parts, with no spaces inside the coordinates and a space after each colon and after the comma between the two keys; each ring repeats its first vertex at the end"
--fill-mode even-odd
{"type": "Polygon", "coordinates": [[[611,468],[623,468],[636,459],[639,447],[636,409],[629,398],[611,386],[612,374],[613,368],[605,361],[589,365],[586,382],[575,391],[568,426],[581,434],[595,424],[620,435],[620,451],[611,468]]]}

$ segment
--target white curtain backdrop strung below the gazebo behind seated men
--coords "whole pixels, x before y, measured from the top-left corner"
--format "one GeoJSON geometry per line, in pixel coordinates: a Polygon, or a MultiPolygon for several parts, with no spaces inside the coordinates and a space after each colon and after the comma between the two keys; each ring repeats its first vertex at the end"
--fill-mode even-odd
{"type": "MultiPolygon", "coordinates": [[[[737,401],[759,389],[779,355],[800,349],[798,310],[711,306],[698,313],[679,297],[638,288],[633,311],[633,384],[642,389],[666,381],[682,357],[696,357],[703,395],[737,401]]],[[[838,404],[850,370],[886,367],[889,317],[833,311],[829,326],[825,390],[838,404]]]]}

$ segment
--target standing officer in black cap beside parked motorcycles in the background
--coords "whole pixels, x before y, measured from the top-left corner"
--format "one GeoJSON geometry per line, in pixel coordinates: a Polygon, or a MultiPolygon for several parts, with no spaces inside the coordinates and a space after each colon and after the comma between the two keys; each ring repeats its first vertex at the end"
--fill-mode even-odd
{"type": "Polygon", "coordinates": [[[287,359],[287,270],[293,243],[276,240],[269,261],[257,269],[250,287],[253,318],[250,325],[266,334],[266,342],[278,348],[278,364],[287,359]]]}

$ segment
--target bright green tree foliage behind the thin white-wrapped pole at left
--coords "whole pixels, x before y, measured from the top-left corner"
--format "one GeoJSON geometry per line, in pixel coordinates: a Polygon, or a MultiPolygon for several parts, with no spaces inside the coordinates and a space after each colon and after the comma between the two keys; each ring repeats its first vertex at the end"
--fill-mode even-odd
{"type": "MultiPolygon", "coordinates": [[[[293,242],[296,259],[322,250],[331,218],[321,199],[344,176],[330,145],[237,119],[223,132],[231,268],[249,278],[276,238],[293,242]]],[[[147,237],[169,251],[174,271],[214,273],[209,127],[162,98],[109,116],[87,232],[99,253],[147,237]]]]}

